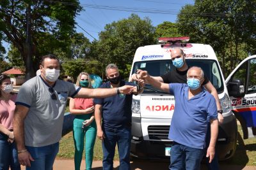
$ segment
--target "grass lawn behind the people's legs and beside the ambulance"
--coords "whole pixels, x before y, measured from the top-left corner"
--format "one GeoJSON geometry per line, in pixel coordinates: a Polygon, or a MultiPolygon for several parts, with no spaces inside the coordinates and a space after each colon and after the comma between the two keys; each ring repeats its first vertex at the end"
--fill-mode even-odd
{"type": "MultiPolygon", "coordinates": [[[[74,159],[74,141],[72,132],[63,136],[60,141],[58,159],[74,159]]],[[[236,153],[232,159],[221,161],[220,164],[236,164],[241,166],[256,166],[256,138],[244,139],[241,126],[238,125],[238,139],[236,153]]],[[[84,154],[83,154],[84,157],[84,154]]],[[[96,138],[93,160],[102,160],[101,141],[96,138]]],[[[115,152],[115,160],[118,160],[118,151],[115,152]]]]}

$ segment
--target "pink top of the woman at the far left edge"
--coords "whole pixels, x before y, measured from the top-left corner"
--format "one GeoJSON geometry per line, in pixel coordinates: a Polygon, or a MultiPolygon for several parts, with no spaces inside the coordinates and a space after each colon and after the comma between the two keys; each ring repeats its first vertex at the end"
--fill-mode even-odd
{"type": "Polygon", "coordinates": [[[8,130],[13,130],[13,115],[17,94],[12,95],[9,101],[0,100],[0,124],[8,130]]]}

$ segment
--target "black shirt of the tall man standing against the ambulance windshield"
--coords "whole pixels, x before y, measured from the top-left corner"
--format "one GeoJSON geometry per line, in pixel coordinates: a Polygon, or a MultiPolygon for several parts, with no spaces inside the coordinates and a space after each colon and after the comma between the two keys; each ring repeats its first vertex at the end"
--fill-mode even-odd
{"type": "MultiPolygon", "coordinates": [[[[188,69],[186,71],[179,71],[175,68],[172,71],[161,76],[161,78],[163,79],[164,83],[187,83],[188,69]]],[[[202,85],[205,85],[208,82],[209,79],[207,78],[207,76],[204,76],[204,82],[202,85]]]]}

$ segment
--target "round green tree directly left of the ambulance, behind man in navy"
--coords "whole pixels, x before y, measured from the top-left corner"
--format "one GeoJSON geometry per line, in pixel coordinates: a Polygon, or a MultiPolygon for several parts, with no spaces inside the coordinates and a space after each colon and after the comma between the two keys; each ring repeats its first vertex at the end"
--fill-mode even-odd
{"type": "Polygon", "coordinates": [[[92,43],[95,45],[92,46],[92,56],[100,61],[102,68],[115,63],[127,77],[130,71],[127,64],[132,64],[136,49],[153,43],[154,27],[151,21],[148,18],[141,20],[138,15],[132,14],[129,18],[106,25],[99,34],[99,42],[92,43]]]}

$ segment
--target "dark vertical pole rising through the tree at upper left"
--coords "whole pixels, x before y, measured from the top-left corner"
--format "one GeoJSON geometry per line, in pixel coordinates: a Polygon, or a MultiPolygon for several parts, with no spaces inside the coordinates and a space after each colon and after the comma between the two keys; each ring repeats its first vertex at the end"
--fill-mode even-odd
{"type": "Polygon", "coordinates": [[[28,3],[26,10],[27,27],[26,27],[26,80],[33,77],[32,52],[31,52],[31,4],[28,3]]]}

